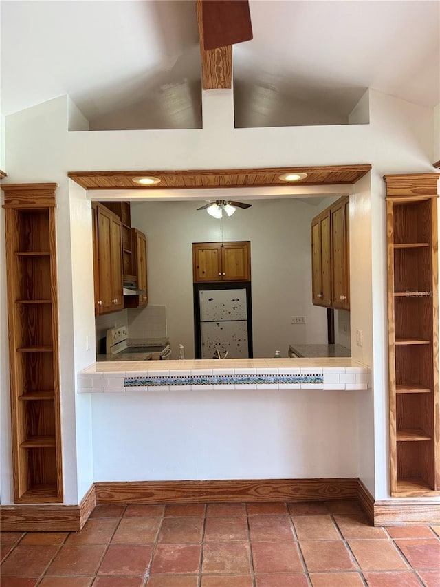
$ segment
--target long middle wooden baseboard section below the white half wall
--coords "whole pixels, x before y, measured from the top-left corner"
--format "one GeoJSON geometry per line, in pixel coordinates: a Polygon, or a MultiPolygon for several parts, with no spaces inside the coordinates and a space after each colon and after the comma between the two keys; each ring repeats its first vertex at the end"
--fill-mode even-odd
{"type": "Polygon", "coordinates": [[[356,499],[358,479],[98,482],[97,504],[305,502],[356,499]]]}

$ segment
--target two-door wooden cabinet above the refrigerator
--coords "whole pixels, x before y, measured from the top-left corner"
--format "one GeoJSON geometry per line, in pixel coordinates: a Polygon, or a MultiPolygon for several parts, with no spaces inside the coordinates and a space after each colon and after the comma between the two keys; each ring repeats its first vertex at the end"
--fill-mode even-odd
{"type": "Polygon", "coordinates": [[[192,244],[192,273],[203,281],[250,281],[250,242],[192,244]]]}

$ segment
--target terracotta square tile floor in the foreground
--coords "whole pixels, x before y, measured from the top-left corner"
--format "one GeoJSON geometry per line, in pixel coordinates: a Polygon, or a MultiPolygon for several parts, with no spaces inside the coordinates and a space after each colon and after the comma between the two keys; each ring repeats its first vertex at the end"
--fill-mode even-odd
{"type": "Polygon", "coordinates": [[[440,587],[440,527],[356,502],[96,506],[80,532],[1,534],[1,587],[440,587]]]}

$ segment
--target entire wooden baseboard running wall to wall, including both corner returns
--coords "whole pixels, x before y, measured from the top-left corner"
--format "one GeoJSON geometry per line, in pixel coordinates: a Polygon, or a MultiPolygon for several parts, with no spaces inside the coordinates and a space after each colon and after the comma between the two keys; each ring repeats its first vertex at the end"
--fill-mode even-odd
{"type": "Polygon", "coordinates": [[[97,504],[332,500],[358,500],[374,526],[440,524],[440,498],[375,502],[356,478],[98,482],[79,505],[0,506],[0,524],[3,532],[79,531],[97,504]]]}

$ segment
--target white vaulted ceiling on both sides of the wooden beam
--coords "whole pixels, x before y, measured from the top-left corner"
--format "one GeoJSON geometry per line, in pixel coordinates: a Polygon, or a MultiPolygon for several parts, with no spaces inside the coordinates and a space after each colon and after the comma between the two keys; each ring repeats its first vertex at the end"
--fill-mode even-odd
{"type": "MultiPolygon", "coordinates": [[[[92,129],[201,126],[192,0],[1,1],[1,111],[69,94],[92,129]]],[[[440,103],[438,1],[250,0],[236,126],[347,122],[367,87],[440,103]]]]}

